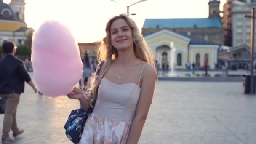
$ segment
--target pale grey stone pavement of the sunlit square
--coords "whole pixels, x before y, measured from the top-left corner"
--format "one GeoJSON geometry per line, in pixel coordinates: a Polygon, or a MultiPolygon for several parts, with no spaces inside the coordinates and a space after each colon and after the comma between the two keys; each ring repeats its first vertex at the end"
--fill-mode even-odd
{"type": "MultiPolygon", "coordinates": [[[[157,87],[141,144],[256,144],[256,96],[243,95],[242,83],[159,81],[157,87]]],[[[17,112],[25,132],[10,144],[71,144],[63,126],[78,101],[33,94],[28,85],[25,91],[17,112]]],[[[2,123],[0,115],[1,130],[2,123]]]]}

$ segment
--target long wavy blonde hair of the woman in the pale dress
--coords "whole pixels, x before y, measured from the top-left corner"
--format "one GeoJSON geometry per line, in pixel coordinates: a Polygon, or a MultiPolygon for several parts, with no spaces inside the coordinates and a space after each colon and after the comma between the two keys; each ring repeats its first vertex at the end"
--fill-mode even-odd
{"type": "Polygon", "coordinates": [[[110,27],[113,21],[117,19],[124,19],[128,26],[131,28],[132,36],[133,36],[133,48],[135,56],[140,59],[141,61],[145,61],[148,64],[152,64],[155,66],[155,55],[152,51],[150,51],[147,42],[142,37],[136,23],[130,17],[126,16],[125,14],[120,14],[119,16],[114,16],[107,22],[106,25],[106,37],[101,40],[101,44],[99,46],[98,51],[98,61],[104,61],[103,66],[100,69],[99,78],[94,83],[91,89],[91,103],[90,106],[93,107],[93,102],[96,101],[98,97],[98,88],[101,83],[101,79],[104,76],[105,72],[109,68],[111,61],[118,57],[117,49],[113,47],[111,44],[111,36],[110,36],[110,27]]]}

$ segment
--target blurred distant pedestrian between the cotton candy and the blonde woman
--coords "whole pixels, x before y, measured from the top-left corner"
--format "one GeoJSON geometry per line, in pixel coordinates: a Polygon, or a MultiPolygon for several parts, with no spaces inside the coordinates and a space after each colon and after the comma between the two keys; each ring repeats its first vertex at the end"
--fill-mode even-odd
{"type": "Polygon", "coordinates": [[[91,77],[92,71],[93,71],[93,67],[92,67],[91,61],[89,59],[88,54],[85,53],[85,57],[83,59],[83,80],[84,80],[83,81],[84,82],[83,90],[85,90],[85,91],[88,88],[87,82],[88,82],[89,77],[91,77]]]}

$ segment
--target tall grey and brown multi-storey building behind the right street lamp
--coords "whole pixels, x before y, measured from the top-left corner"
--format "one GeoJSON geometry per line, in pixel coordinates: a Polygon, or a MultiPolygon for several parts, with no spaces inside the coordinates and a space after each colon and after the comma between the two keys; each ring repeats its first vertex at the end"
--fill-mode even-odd
{"type": "MultiPolygon", "coordinates": [[[[251,3],[251,0],[239,0],[251,3]]],[[[227,0],[223,6],[222,23],[224,27],[224,44],[237,47],[240,45],[251,45],[251,19],[243,15],[251,15],[251,9],[236,5],[233,0],[227,0]]]]}

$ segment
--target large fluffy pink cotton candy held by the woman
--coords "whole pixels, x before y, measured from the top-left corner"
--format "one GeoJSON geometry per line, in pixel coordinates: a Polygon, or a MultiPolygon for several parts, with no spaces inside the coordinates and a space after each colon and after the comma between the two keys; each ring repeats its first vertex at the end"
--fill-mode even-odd
{"type": "Polygon", "coordinates": [[[31,60],[35,82],[46,96],[67,95],[83,73],[77,42],[58,21],[45,21],[34,33],[31,60]]]}

